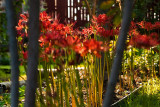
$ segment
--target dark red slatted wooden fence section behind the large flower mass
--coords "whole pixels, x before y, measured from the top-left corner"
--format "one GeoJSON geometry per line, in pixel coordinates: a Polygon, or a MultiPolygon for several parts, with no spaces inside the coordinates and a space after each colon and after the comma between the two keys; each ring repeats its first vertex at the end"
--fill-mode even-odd
{"type": "Polygon", "coordinates": [[[87,8],[82,0],[45,0],[47,13],[60,20],[61,23],[76,22],[75,26],[84,26],[89,22],[87,8]]]}

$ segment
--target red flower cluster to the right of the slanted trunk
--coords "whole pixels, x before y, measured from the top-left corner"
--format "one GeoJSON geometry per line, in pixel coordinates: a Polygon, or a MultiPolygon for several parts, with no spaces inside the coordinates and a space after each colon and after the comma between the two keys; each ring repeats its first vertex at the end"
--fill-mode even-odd
{"type": "Polygon", "coordinates": [[[132,21],[129,31],[129,35],[131,36],[129,45],[146,49],[159,45],[160,37],[156,30],[153,29],[160,29],[160,22],[152,24],[146,21],[138,23],[132,21]],[[146,32],[140,33],[140,31],[144,31],[144,29],[146,29],[146,32]]]}

